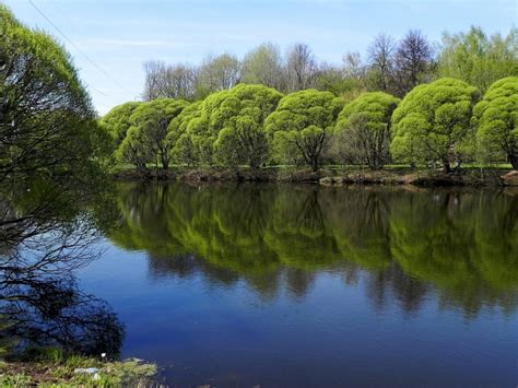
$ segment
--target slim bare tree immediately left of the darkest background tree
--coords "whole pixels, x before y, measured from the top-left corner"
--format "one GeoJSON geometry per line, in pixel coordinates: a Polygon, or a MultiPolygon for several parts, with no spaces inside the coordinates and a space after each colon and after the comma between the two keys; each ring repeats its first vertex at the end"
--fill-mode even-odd
{"type": "Polygon", "coordinates": [[[379,34],[368,47],[368,62],[375,75],[375,87],[389,92],[395,70],[395,40],[379,34]]]}

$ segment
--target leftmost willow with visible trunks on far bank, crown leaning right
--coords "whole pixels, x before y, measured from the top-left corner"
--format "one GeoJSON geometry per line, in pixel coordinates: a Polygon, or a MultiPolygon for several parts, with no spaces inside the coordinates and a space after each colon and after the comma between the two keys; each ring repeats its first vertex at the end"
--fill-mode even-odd
{"type": "Polygon", "coordinates": [[[169,166],[172,143],[166,140],[170,121],[188,103],[184,99],[158,98],[136,107],[129,118],[131,127],[117,150],[120,161],[140,168],[160,160],[162,167],[169,166]]]}

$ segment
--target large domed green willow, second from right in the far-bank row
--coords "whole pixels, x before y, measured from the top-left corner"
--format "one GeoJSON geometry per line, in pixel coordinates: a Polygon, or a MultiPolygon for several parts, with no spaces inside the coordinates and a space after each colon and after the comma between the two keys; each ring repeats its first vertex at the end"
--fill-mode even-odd
{"type": "Polygon", "coordinates": [[[401,162],[435,163],[445,171],[460,162],[473,142],[471,114],[479,98],[474,86],[440,79],[414,87],[392,115],[392,157],[401,162]]]}

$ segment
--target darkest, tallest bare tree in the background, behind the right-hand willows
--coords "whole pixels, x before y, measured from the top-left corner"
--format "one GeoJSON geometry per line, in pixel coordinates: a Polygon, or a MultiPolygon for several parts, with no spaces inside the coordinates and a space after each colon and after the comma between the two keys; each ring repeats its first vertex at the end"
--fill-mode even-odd
{"type": "Polygon", "coordinates": [[[429,81],[434,69],[434,54],[428,40],[419,30],[409,31],[396,51],[399,94],[404,96],[417,84],[429,81]]]}

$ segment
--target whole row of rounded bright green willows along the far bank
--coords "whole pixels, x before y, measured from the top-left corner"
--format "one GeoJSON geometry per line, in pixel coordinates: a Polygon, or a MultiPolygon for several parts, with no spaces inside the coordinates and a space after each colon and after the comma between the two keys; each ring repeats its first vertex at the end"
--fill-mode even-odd
{"type": "Polygon", "coordinates": [[[349,103],[315,89],[283,95],[238,84],[203,101],[156,98],[111,109],[101,126],[118,162],[145,168],[322,163],[439,164],[508,162],[518,168],[518,78],[482,95],[459,79],[420,84],[402,99],[366,92],[349,103]]]}

